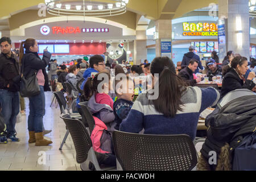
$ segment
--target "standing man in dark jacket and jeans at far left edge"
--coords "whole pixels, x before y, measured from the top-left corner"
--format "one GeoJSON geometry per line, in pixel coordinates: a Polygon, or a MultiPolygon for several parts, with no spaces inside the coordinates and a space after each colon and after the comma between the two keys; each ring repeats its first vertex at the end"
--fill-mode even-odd
{"type": "Polygon", "coordinates": [[[2,115],[7,126],[7,138],[1,137],[0,143],[19,142],[16,138],[15,124],[19,114],[19,89],[20,73],[18,57],[11,51],[11,39],[3,37],[0,39],[0,103],[2,115]]]}

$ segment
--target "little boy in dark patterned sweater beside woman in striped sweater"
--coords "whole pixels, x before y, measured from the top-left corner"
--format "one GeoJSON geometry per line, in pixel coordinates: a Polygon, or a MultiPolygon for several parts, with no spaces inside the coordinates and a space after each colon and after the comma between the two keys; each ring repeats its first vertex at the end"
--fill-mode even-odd
{"type": "Polygon", "coordinates": [[[123,119],[130,113],[133,106],[134,83],[129,77],[121,81],[115,81],[115,94],[117,101],[114,102],[115,130],[119,130],[119,126],[123,119]]]}

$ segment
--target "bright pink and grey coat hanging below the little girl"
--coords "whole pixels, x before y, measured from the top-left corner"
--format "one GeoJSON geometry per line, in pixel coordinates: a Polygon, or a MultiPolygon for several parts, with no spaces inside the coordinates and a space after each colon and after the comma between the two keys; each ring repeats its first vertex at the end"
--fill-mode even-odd
{"type": "Polygon", "coordinates": [[[90,135],[93,150],[102,154],[110,154],[112,134],[108,131],[108,127],[99,118],[93,116],[95,126],[90,135]]]}

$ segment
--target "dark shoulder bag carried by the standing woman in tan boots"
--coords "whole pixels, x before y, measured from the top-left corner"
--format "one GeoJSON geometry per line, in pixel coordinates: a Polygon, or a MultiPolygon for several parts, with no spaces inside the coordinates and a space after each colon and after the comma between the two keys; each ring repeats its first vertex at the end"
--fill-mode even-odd
{"type": "Polygon", "coordinates": [[[26,78],[24,76],[24,60],[22,64],[22,75],[20,82],[20,96],[31,97],[40,94],[40,87],[38,85],[38,79],[36,78],[36,73],[31,77],[26,78]]]}

